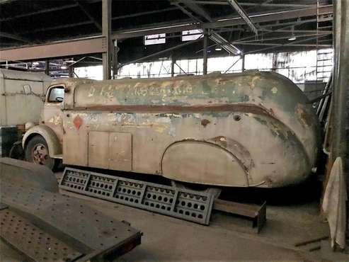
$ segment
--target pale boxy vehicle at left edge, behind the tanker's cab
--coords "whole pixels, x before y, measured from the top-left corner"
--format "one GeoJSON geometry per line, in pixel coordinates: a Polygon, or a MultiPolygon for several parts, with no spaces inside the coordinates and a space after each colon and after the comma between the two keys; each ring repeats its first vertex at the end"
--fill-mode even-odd
{"type": "Polygon", "coordinates": [[[10,154],[25,123],[39,123],[51,81],[43,73],[0,69],[0,157],[10,154]]]}

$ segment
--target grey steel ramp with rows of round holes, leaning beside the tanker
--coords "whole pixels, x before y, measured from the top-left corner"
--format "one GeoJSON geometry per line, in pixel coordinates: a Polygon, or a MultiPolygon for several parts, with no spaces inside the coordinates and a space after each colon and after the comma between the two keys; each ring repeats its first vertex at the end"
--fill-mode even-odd
{"type": "Polygon", "coordinates": [[[59,188],[209,224],[214,195],[102,173],[66,168],[59,188]]]}

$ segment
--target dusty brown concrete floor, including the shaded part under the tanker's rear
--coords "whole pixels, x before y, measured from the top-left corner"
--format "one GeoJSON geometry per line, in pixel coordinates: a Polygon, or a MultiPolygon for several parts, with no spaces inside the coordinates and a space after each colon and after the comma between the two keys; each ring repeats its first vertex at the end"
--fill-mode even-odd
{"type": "MultiPolygon", "coordinates": [[[[59,176],[61,173],[57,173],[59,176]]],[[[321,261],[319,250],[308,251],[319,242],[294,246],[300,241],[328,236],[328,226],[319,216],[319,193],[309,190],[311,185],[283,189],[281,193],[237,189],[223,193],[226,199],[268,201],[268,221],[260,234],[251,228],[250,220],[224,213],[214,212],[207,227],[84,195],[62,193],[81,198],[86,205],[126,220],[144,233],[142,244],[118,261],[321,261]]],[[[7,249],[3,244],[1,253],[7,249]]],[[[11,251],[5,253],[2,261],[21,260],[11,251]]]]}

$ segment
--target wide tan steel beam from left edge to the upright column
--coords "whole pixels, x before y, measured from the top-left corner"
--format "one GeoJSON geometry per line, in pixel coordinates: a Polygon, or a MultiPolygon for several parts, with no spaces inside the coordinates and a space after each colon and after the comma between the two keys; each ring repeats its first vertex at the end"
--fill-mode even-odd
{"type": "Polygon", "coordinates": [[[8,48],[0,50],[0,59],[8,61],[25,61],[54,57],[101,53],[106,51],[105,38],[82,38],[45,45],[8,48]]]}

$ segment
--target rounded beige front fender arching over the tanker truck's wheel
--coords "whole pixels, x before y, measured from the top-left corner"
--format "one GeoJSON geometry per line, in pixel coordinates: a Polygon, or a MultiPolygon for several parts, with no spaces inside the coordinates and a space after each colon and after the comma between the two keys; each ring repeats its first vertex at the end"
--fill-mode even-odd
{"type": "Polygon", "coordinates": [[[59,139],[55,132],[47,125],[35,125],[35,127],[30,128],[25,132],[22,139],[22,146],[25,149],[29,140],[35,135],[41,135],[44,137],[50,157],[57,158],[57,155],[62,155],[62,144],[59,142],[59,139]]]}

